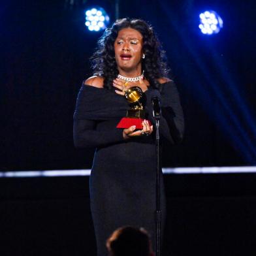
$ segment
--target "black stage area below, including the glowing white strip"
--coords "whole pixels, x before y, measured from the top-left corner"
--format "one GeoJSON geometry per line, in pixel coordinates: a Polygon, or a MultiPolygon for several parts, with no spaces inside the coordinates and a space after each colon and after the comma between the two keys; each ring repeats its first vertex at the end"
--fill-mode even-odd
{"type": "MultiPolygon", "coordinates": [[[[165,171],[164,255],[255,255],[255,172],[194,170],[204,172],[165,171]]],[[[76,171],[2,176],[1,256],[95,255],[88,171],[76,171]]]]}

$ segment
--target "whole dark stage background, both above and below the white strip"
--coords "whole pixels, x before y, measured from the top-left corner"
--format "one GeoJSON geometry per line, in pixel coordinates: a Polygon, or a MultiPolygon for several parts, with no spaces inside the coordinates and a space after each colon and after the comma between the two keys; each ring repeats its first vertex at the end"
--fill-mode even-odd
{"type": "MultiPolygon", "coordinates": [[[[114,21],[114,1],[0,4],[0,172],[90,168],[72,142],[72,114],[101,33],[86,7],[114,21]],[[84,2],[84,4],[83,4],[84,2]],[[66,3],[66,5],[65,5],[66,3]]],[[[120,17],[150,21],[167,51],[185,114],[165,167],[256,165],[255,1],[121,1],[120,17]],[[198,16],[223,18],[205,37],[198,16]]],[[[97,104],[97,103],[95,103],[97,104]]],[[[255,255],[255,174],[165,175],[166,255],[255,255]]],[[[1,255],[95,255],[88,177],[1,178],[1,255]]]]}

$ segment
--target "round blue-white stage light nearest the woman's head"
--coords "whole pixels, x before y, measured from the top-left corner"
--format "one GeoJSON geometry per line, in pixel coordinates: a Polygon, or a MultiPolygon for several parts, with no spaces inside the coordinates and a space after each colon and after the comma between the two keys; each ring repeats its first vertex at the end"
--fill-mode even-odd
{"type": "Polygon", "coordinates": [[[106,14],[105,10],[101,7],[86,10],[85,14],[85,25],[88,27],[89,31],[103,30],[109,24],[108,14],[106,14]]]}

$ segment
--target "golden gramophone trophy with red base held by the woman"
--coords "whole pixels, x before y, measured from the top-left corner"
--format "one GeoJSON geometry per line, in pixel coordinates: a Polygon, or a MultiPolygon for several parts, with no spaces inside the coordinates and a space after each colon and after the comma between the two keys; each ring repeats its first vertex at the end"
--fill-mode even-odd
{"type": "Polygon", "coordinates": [[[136,129],[142,129],[142,121],[146,117],[146,112],[143,109],[142,104],[142,89],[140,89],[138,86],[133,86],[127,89],[127,91],[125,91],[125,98],[129,102],[129,106],[131,107],[131,109],[127,110],[126,117],[122,118],[116,127],[129,128],[132,125],[136,125],[136,129]]]}

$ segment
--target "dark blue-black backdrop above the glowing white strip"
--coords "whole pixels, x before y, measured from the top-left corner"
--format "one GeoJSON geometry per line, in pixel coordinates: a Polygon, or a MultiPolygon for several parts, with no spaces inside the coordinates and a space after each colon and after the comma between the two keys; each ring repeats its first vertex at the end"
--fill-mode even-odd
{"type": "MultiPolygon", "coordinates": [[[[101,35],[86,31],[83,12],[98,3],[113,22],[115,6],[84,2],[1,2],[1,170],[91,166],[93,150],[72,144],[76,95],[101,35]]],[[[120,17],[155,27],[180,91],[185,138],[165,146],[165,166],[255,164],[254,15],[254,1],[120,1],[120,17]],[[219,35],[199,33],[204,8],[223,17],[219,35]]]]}

